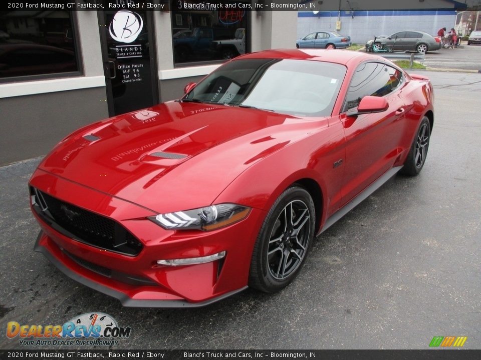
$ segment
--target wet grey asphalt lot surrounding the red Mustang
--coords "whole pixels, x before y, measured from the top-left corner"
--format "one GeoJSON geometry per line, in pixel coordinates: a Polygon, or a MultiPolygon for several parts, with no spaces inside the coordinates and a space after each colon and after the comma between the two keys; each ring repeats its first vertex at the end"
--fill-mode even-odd
{"type": "Polygon", "coordinates": [[[91,311],[132,327],[117,349],[424,349],[435,335],[481,348],[481,74],[425,73],[436,113],[421,174],[395,176],[322,234],[298,278],[274,295],[122,307],[33,251],[27,181],[39,159],[1,167],[0,348],[22,348],[7,338],[8,321],[61,324],[91,311]]]}

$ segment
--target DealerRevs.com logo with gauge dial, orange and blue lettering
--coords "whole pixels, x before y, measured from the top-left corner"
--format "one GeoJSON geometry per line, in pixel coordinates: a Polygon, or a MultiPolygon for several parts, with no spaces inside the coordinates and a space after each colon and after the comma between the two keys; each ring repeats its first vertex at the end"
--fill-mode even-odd
{"type": "Polygon", "coordinates": [[[24,346],[117,345],[119,338],[130,336],[130,331],[129,326],[119,326],[103,312],[84,313],[63,325],[29,325],[17,321],[7,324],[7,336],[20,337],[19,342],[24,346]]]}

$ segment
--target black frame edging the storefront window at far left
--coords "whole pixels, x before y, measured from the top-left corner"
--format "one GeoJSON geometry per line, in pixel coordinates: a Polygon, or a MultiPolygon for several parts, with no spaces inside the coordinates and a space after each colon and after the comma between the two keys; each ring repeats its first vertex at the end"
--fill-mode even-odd
{"type": "Polygon", "coordinates": [[[75,58],[77,60],[77,67],[78,71],[69,71],[69,72],[51,72],[46,74],[37,74],[37,75],[25,75],[25,76],[12,76],[12,77],[0,77],[0,85],[7,84],[11,82],[27,82],[27,81],[36,81],[36,80],[53,80],[56,78],[65,78],[65,77],[79,77],[84,76],[84,63],[82,60],[82,56],[80,56],[80,37],[79,37],[79,25],[78,25],[78,17],[77,11],[69,11],[70,13],[70,21],[72,23],[72,30],[74,32],[74,49],[75,49],[75,58]]]}

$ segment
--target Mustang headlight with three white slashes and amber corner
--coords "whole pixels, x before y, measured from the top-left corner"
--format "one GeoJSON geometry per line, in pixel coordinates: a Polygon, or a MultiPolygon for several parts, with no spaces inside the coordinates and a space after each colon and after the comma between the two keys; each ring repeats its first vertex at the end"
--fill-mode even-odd
{"type": "Polygon", "coordinates": [[[167,230],[199,229],[214,230],[240,221],[249,215],[250,207],[222,203],[192,210],[168,212],[148,218],[167,230]]]}

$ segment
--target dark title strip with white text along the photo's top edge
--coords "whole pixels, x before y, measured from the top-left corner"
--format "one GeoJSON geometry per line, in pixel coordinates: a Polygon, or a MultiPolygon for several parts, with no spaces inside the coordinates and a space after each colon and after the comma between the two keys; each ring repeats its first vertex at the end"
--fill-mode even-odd
{"type": "MultiPolygon", "coordinates": [[[[452,8],[455,1],[448,0],[24,0],[2,2],[0,10],[161,10],[161,11],[212,11],[212,10],[257,10],[257,11],[341,11],[341,10],[403,10],[452,8]]],[[[457,3],[461,5],[461,3],[457,3]]]]}

